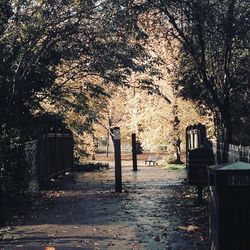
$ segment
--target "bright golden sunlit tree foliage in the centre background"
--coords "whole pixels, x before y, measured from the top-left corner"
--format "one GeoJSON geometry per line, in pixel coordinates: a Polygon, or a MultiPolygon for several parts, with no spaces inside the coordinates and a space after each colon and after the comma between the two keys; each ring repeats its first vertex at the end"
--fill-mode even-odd
{"type": "Polygon", "coordinates": [[[207,114],[199,116],[194,105],[179,97],[177,81],[182,49],[177,39],[166,40],[162,36],[165,26],[155,27],[157,18],[154,12],[143,13],[138,24],[147,37],[140,41],[141,45],[150,55],[143,63],[150,68],[132,72],[128,88],[109,92],[114,98],[108,106],[107,116],[113,125],[121,127],[124,143],[130,143],[131,133],[137,133],[146,150],[165,148],[168,160],[180,162],[186,126],[196,122],[210,125],[210,121],[207,114]]]}

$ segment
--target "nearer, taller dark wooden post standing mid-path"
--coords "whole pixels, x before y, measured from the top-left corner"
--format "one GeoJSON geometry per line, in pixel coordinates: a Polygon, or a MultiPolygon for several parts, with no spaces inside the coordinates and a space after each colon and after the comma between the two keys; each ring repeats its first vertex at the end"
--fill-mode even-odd
{"type": "Polygon", "coordinates": [[[120,128],[114,127],[111,130],[115,151],[115,191],[122,192],[122,171],[121,171],[121,135],[120,128]]]}

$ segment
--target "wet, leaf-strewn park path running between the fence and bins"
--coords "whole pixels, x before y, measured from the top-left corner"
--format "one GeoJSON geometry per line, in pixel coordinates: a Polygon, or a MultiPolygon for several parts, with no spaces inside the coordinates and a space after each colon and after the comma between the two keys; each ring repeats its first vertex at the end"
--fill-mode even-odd
{"type": "Polygon", "coordinates": [[[0,249],[205,250],[203,232],[181,201],[185,171],[141,162],[135,173],[130,163],[122,166],[122,193],[114,192],[112,164],[78,172],[47,191],[23,222],[3,228],[0,249]]]}

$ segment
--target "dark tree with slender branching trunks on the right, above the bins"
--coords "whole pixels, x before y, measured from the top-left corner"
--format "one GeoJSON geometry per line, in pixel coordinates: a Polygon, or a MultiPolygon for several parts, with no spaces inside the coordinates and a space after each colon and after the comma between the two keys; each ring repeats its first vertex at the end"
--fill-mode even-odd
{"type": "Polygon", "coordinates": [[[166,39],[178,39],[185,53],[183,95],[212,110],[224,142],[231,143],[237,95],[248,105],[243,94],[249,91],[248,1],[169,0],[151,2],[150,9],[152,5],[162,13],[159,22],[168,23],[166,39]]]}

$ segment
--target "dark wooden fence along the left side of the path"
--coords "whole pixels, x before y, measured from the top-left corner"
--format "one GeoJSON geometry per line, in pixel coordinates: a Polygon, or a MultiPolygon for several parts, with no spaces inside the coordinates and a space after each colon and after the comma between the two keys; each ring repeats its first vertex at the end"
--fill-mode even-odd
{"type": "Polygon", "coordinates": [[[29,163],[29,188],[36,191],[46,181],[74,171],[72,133],[46,133],[25,145],[29,163]]]}

